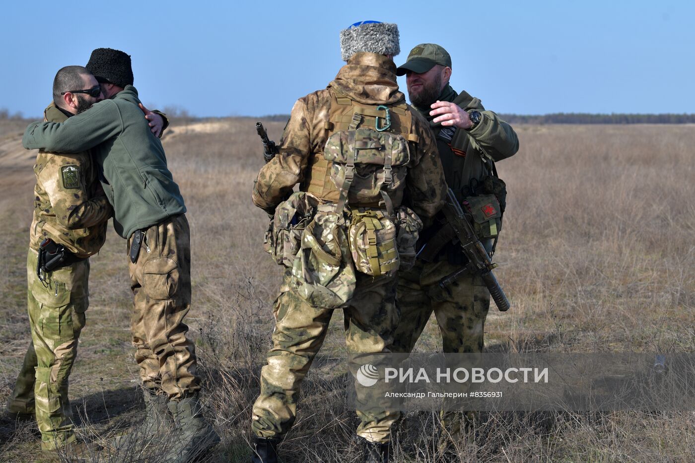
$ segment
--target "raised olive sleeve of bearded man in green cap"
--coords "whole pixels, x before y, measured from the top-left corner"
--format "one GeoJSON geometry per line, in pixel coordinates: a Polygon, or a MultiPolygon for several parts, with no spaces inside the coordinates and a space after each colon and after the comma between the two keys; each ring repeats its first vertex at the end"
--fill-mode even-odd
{"type": "Polygon", "coordinates": [[[468,131],[475,145],[481,147],[493,161],[502,161],[514,156],[519,149],[516,132],[505,120],[492,111],[485,111],[480,99],[473,99],[477,105],[465,108],[466,111],[477,109],[482,113],[482,120],[477,127],[468,131]]]}

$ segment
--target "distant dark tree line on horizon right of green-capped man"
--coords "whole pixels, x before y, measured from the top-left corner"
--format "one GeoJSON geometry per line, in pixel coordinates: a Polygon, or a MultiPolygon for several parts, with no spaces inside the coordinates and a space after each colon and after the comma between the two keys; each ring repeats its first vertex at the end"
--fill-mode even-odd
{"type": "Polygon", "coordinates": [[[500,114],[510,124],[695,124],[695,114],[500,114]]]}

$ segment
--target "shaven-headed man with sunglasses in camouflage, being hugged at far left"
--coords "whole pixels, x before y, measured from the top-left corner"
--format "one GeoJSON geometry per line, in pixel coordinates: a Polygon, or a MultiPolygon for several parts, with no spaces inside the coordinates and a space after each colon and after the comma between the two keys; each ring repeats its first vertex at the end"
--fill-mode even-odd
{"type": "MultiPolygon", "coordinates": [[[[64,122],[101,99],[99,83],[88,70],[64,67],[56,74],[54,104],[46,108],[45,120],[64,122]]],[[[104,244],[106,222],[113,211],[87,152],[39,152],[34,173],[34,213],[26,264],[33,342],[8,400],[8,411],[35,412],[41,446],[53,450],[76,441],[67,397],[68,377],[89,305],[89,257],[104,244]],[[69,251],[64,265],[52,271],[37,268],[40,243],[47,238],[69,251]]]]}

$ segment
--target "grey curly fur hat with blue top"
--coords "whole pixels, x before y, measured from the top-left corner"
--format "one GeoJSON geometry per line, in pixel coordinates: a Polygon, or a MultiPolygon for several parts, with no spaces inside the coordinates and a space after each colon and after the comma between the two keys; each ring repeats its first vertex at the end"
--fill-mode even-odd
{"type": "Polygon", "coordinates": [[[398,25],[377,21],[362,21],[341,31],[343,61],[358,51],[396,56],[400,53],[398,25]]]}

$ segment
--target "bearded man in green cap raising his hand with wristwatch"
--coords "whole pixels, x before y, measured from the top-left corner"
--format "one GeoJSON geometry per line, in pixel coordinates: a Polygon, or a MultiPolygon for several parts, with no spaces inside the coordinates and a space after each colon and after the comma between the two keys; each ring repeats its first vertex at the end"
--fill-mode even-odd
{"type": "MultiPolygon", "coordinates": [[[[437,44],[414,47],[397,74],[407,76],[411,104],[430,122],[446,182],[457,200],[464,207],[480,199],[489,200],[499,211],[489,222],[474,224],[486,250],[493,252],[506,195],[494,163],[517,152],[514,129],[496,113],[486,111],[480,99],[466,92],[457,93],[449,85],[451,57],[437,44]]],[[[444,288],[439,285],[467,263],[458,243],[437,235],[443,220],[439,218],[436,226],[423,230],[418,241],[418,250],[427,251],[432,246],[441,250],[429,256],[421,252],[427,261],[418,258],[414,268],[399,274],[396,300],[401,321],[391,347],[394,352],[413,350],[432,311],[439,324],[444,352],[482,352],[490,294],[480,277],[466,273],[444,288]]],[[[459,414],[444,416],[449,434],[460,433],[458,417],[459,414]]]]}

